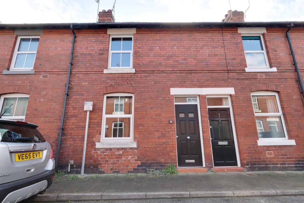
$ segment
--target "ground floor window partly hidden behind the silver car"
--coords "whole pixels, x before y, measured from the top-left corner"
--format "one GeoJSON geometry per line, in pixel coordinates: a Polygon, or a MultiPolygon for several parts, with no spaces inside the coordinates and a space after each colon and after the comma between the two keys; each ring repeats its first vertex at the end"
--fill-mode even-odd
{"type": "Polygon", "coordinates": [[[6,94],[0,98],[2,119],[24,121],[29,95],[27,94],[6,94]]]}

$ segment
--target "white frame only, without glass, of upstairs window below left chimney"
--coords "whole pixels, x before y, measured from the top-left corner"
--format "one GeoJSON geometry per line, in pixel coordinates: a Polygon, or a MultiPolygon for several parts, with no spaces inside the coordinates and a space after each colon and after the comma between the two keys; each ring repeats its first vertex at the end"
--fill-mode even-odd
{"type": "MultiPolygon", "coordinates": [[[[109,61],[108,61],[108,69],[111,70],[124,70],[124,69],[133,69],[133,35],[124,35],[124,34],[111,34],[110,35],[110,42],[109,42],[109,61]],[[112,47],[112,38],[132,38],[132,50],[131,51],[111,51],[112,47]],[[111,67],[111,61],[112,61],[112,53],[130,53],[130,67],[111,67]]],[[[121,43],[123,46],[123,43],[121,43]]],[[[120,58],[120,64],[121,64],[121,58],[120,58]]]]}

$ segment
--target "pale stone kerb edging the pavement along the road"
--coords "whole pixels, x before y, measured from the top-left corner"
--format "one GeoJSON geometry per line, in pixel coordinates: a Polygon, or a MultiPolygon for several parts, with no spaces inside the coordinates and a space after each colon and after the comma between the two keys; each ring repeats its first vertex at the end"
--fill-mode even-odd
{"type": "Polygon", "coordinates": [[[72,201],[105,199],[150,199],[189,197],[249,197],[276,195],[303,195],[304,190],[235,190],[235,191],[180,191],[180,192],[98,192],[98,193],[45,193],[33,201],[72,201]]]}

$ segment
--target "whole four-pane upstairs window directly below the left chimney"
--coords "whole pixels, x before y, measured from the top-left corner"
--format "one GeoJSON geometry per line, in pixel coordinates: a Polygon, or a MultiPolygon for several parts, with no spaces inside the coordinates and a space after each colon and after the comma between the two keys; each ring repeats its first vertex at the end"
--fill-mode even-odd
{"type": "Polygon", "coordinates": [[[131,69],[133,37],[110,37],[109,69],[131,69]]]}

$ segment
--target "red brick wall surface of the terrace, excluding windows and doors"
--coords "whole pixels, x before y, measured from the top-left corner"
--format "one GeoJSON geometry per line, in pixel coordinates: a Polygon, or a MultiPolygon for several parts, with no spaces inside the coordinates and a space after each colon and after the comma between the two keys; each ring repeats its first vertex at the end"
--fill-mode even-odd
{"type": "MultiPolygon", "coordinates": [[[[60,168],[74,161],[81,168],[86,112],[83,102],[92,101],[86,172],[145,172],[177,163],[174,101],[171,87],[234,87],[231,95],[241,166],[248,170],[302,169],[304,166],[304,106],[285,37],[285,28],[268,28],[264,34],[268,59],[278,72],[245,73],[246,61],[237,28],[140,28],[134,34],[133,66],[136,73],[103,74],[108,64],[109,35],[106,29],[75,30],[71,87],[67,100],[60,168]],[[224,46],[225,45],[225,50],[224,46]],[[226,60],[225,60],[226,51],[226,60]],[[226,65],[227,62],[227,65],[226,65]],[[275,84],[262,85],[259,84],[275,84]],[[115,88],[110,88],[114,86],[115,88]],[[106,93],[134,92],[134,141],[137,148],[96,149],[101,139],[102,107],[106,93]],[[126,88],[130,87],[130,88],[126,88]],[[279,87],[279,98],[289,139],[293,146],[258,146],[250,91],[279,87]],[[254,89],[254,90],[253,90],[254,89]],[[266,157],[273,151],[274,157],[266,157]]],[[[0,30],[0,67],[8,69],[16,36],[0,30]]],[[[304,32],[290,31],[303,76],[304,32]]],[[[33,75],[2,75],[0,86],[30,88],[26,121],[37,123],[56,155],[72,34],[70,30],[45,30],[41,35],[33,75]],[[49,74],[42,79],[42,74],[49,74]]],[[[21,88],[22,89],[22,88],[21,88]]],[[[23,92],[21,92],[23,93],[23,92]]],[[[200,95],[203,147],[211,168],[212,150],[206,96],[200,95]]]]}

